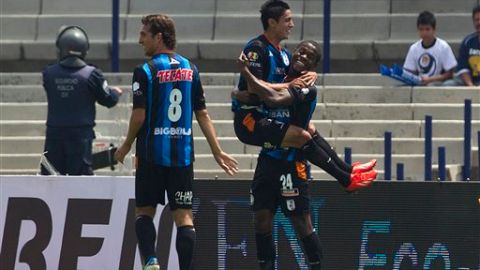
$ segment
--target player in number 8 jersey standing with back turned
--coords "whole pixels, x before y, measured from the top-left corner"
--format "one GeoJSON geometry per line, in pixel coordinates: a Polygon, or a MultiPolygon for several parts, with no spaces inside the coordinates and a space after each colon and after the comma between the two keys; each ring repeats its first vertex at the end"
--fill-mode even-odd
{"type": "Polygon", "coordinates": [[[193,113],[215,160],[225,172],[236,173],[237,161],[224,153],[218,143],[196,66],[175,53],[173,20],[165,15],[148,15],[142,18],[142,24],[139,43],[151,59],[134,71],[128,134],[115,158],[123,162],[136,139],[135,231],[144,270],[160,269],[152,218],[157,204],[165,204],[165,191],[177,227],[180,270],[188,270],[195,242],[191,210],[193,113]]]}

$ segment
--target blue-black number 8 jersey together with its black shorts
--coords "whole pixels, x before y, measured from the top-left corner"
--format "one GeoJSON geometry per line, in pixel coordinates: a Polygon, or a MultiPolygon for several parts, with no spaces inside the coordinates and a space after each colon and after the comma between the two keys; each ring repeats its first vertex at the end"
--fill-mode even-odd
{"type": "Polygon", "coordinates": [[[146,118],[136,142],[137,207],[165,204],[191,209],[193,181],[193,111],[204,110],[198,70],[179,54],[157,54],[133,75],[133,108],[146,118]]]}

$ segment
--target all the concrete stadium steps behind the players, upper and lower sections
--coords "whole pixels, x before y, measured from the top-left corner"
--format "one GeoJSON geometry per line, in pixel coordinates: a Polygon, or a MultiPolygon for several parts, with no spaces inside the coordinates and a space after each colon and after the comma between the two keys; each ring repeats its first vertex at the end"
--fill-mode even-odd
{"type": "MultiPolygon", "coordinates": [[[[332,0],[332,72],[318,80],[320,92],[314,123],[339,153],[353,150],[353,160],[379,160],[383,171],[383,134],[393,133],[392,172],[405,164],[407,179],[423,178],[424,117],[432,115],[433,160],[446,146],[450,178],[458,178],[463,162],[463,102],[473,101],[472,144],[478,151],[480,129],[478,88],[397,87],[376,73],[378,65],[401,63],[418,39],[416,16],[428,9],[437,15],[438,36],[454,52],[473,31],[470,11],[480,0],[332,0]],[[341,74],[339,74],[341,72],[341,74]],[[360,72],[362,74],[354,74],[360,72]],[[369,72],[369,73],[367,73],[369,72]]],[[[233,134],[229,92],[237,74],[234,59],[248,38],[262,31],[258,10],[263,0],[120,0],[120,67],[107,74],[111,85],[129,90],[133,67],[144,59],[137,44],[140,18],[149,13],[171,15],[176,22],[178,51],[200,68],[208,109],[224,149],[240,161],[242,178],[251,178],[258,149],[241,144],[233,134]],[[211,72],[211,73],[209,73],[211,72]]],[[[295,29],[286,45],[302,39],[323,40],[323,1],[289,0],[295,29]]],[[[86,29],[91,40],[88,60],[109,71],[111,1],[3,0],[0,6],[0,173],[35,174],[43,149],[46,97],[40,71],[55,61],[54,40],[65,24],[86,29]],[[29,73],[22,73],[29,72],[29,73]]],[[[129,91],[112,110],[98,107],[95,150],[118,144],[130,113],[129,91]]],[[[198,125],[194,125],[197,177],[225,177],[211,158],[198,125]]],[[[476,152],[475,152],[476,153],[476,152]]],[[[473,155],[473,164],[478,164],[473,155]]],[[[131,164],[114,172],[131,174],[131,164]]],[[[329,178],[315,168],[317,179],[329,178]]],[[[380,176],[382,177],[382,175],[380,176]]]]}

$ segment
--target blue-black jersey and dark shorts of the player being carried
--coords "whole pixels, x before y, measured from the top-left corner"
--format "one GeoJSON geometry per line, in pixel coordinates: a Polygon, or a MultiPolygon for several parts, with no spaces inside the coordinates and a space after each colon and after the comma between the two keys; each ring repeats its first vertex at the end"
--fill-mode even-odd
{"type": "MultiPolygon", "coordinates": [[[[270,83],[283,82],[291,59],[291,53],[286,48],[279,50],[264,35],[260,35],[247,43],[243,53],[247,56],[249,69],[255,77],[270,83]]],[[[243,76],[240,77],[238,90],[247,91],[247,82],[243,76]]],[[[232,111],[235,114],[235,134],[240,141],[256,146],[273,146],[279,143],[281,134],[272,136],[272,130],[279,130],[283,125],[265,119],[266,110],[263,105],[242,104],[233,99],[232,111]],[[272,138],[276,140],[272,141],[272,138]]]]}

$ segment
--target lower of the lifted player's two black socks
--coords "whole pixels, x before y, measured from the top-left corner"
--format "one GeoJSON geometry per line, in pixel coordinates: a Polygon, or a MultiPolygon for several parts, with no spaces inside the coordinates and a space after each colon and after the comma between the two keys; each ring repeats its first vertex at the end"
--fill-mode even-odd
{"type": "Polygon", "coordinates": [[[313,139],[307,141],[302,150],[308,161],[335,177],[342,186],[346,187],[350,184],[350,173],[340,169],[313,139]]]}

